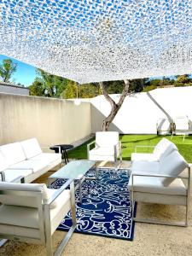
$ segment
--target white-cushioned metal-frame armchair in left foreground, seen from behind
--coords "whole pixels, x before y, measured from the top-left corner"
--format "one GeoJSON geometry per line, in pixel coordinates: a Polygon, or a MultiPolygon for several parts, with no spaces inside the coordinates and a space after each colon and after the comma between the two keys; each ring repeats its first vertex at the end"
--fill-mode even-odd
{"type": "Polygon", "coordinates": [[[0,237],[45,245],[53,255],[51,236],[67,212],[72,211],[73,226],[61,241],[55,255],[61,255],[76,227],[74,182],[60,189],[45,184],[0,183],[0,237]],[[70,190],[66,189],[70,185],[70,190]]]}

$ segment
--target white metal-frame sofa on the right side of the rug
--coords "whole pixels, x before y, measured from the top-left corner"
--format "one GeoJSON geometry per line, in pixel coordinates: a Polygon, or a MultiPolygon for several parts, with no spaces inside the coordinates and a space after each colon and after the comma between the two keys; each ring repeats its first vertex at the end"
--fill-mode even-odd
{"type": "MultiPolygon", "coordinates": [[[[137,217],[134,218],[134,220],[152,224],[187,226],[189,214],[190,166],[183,159],[183,156],[178,153],[177,147],[173,146],[172,143],[164,149],[165,151],[161,151],[158,160],[156,158],[157,154],[149,154],[151,156],[150,159],[146,157],[144,160],[144,157],[140,157],[142,160],[132,161],[131,177],[128,184],[132,201],[132,214],[134,214],[134,201],[180,205],[186,207],[184,222],[162,222],[137,217]],[[187,172],[187,174],[184,173],[183,175],[184,171],[187,172]]],[[[145,154],[143,154],[143,156],[144,155],[145,154]]],[[[134,157],[135,156],[136,155],[134,155],[134,157]]]]}

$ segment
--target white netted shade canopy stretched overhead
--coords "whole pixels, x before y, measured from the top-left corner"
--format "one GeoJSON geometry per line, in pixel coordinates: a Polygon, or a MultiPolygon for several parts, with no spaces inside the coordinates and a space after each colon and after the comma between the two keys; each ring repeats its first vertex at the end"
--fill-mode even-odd
{"type": "Polygon", "coordinates": [[[192,2],[0,0],[0,54],[80,84],[192,73],[192,2]]]}

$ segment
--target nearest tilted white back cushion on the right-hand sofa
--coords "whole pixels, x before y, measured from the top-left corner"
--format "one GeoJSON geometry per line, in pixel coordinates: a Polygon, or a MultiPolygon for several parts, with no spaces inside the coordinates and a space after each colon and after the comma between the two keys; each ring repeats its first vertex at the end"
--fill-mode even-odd
{"type": "MultiPolygon", "coordinates": [[[[160,162],[160,174],[177,176],[188,166],[183,156],[179,154],[177,150],[174,150],[160,162]]],[[[174,179],[174,177],[162,177],[161,182],[164,186],[168,186],[174,179]]]]}

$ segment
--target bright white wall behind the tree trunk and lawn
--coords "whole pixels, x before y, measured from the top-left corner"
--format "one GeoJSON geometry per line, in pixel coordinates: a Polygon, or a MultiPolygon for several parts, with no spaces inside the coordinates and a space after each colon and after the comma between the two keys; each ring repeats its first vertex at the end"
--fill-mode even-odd
{"type": "MultiPolygon", "coordinates": [[[[118,95],[113,99],[117,102],[118,95]]],[[[102,119],[110,105],[103,96],[91,99],[92,132],[101,131],[102,119]]],[[[127,96],[110,126],[122,134],[155,134],[157,119],[188,115],[192,120],[192,86],[162,88],[127,96]]]]}

